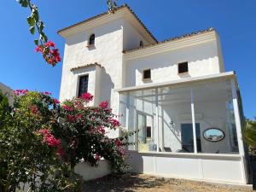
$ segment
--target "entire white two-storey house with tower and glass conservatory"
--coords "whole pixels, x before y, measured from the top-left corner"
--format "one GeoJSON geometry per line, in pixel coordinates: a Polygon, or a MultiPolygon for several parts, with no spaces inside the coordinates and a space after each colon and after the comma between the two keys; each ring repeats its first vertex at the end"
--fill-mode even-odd
{"type": "Polygon", "coordinates": [[[88,91],[92,105],[108,100],[128,131],[139,130],[132,172],[247,183],[239,88],[214,29],[158,42],[124,5],[58,33],[61,101],[88,91]]]}

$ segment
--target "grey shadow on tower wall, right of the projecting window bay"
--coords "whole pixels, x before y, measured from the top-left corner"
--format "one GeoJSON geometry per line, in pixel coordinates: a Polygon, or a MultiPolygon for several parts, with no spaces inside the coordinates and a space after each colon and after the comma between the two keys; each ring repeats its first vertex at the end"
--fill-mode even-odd
{"type": "Polygon", "coordinates": [[[102,67],[102,79],[101,79],[101,96],[100,102],[108,101],[111,105],[111,92],[113,90],[113,81],[110,75],[106,72],[106,69],[102,67]]]}

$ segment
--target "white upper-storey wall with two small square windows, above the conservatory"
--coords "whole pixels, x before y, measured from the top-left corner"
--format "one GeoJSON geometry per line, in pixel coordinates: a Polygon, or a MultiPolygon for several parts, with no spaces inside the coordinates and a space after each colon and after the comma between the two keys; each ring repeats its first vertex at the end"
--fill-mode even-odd
{"type": "Polygon", "coordinates": [[[217,41],[174,49],[161,54],[152,54],[125,61],[125,86],[160,83],[183,78],[194,78],[221,73],[218,60],[217,41]],[[189,62],[189,73],[177,74],[177,64],[189,62]],[[151,81],[143,82],[143,69],[151,69],[151,81]]]}

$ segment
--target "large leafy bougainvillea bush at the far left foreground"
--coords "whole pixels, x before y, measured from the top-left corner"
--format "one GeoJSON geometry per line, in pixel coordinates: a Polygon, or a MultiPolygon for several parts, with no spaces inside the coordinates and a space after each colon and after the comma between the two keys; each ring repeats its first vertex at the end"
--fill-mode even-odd
{"type": "Polygon", "coordinates": [[[29,183],[31,191],[79,191],[80,180],[59,158],[61,140],[50,131],[54,100],[49,94],[15,90],[14,106],[6,101],[0,94],[0,106],[5,103],[0,109],[0,191],[15,191],[20,183],[29,183]]]}

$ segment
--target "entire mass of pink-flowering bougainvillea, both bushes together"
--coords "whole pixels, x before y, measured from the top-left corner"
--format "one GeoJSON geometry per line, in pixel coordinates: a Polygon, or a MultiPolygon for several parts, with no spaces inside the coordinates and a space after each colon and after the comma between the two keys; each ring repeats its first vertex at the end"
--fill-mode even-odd
{"type": "Polygon", "coordinates": [[[32,191],[79,191],[73,167],[81,160],[97,166],[104,158],[124,172],[125,145],[131,143],[107,136],[119,121],[108,102],[89,107],[92,98],[87,93],[60,103],[49,92],[15,90],[10,108],[0,94],[0,191],[15,191],[20,182],[32,191]]]}

